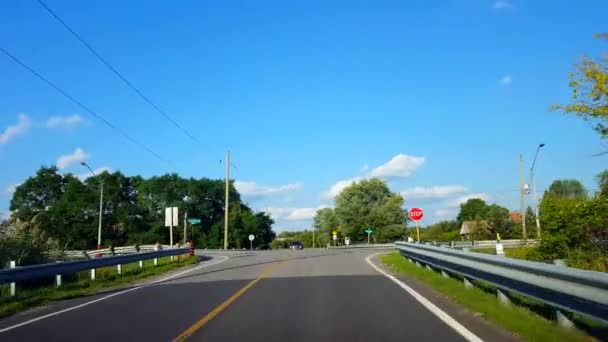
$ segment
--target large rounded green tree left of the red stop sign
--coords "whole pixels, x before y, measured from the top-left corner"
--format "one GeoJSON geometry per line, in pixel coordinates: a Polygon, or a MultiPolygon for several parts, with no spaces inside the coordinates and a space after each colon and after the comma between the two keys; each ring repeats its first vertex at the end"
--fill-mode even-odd
{"type": "Polygon", "coordinates": [[[386,184],[373,178],[346,187],[336,197],[335,215],[339,231],[351,241],[366,241],[364,230],[379,229],[405,221],[403,198],[391,193],[386,184]]]}

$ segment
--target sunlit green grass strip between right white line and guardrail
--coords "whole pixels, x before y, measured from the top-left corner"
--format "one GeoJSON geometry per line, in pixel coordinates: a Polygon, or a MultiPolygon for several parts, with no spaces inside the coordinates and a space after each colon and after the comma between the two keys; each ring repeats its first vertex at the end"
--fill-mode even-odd
{"type": "MultiPolygon", "coordinates": [[[[593,338],[576,329],[565,329],[530,310],[516,305],[501,305],[494,294],[483,289],[467,289],[461,280],[443,278],[408,262],[399,253],[383,255],[380,260],[396,274],[415,278],[472,313],[482,314],[494,324],[528,341],[592,341],[593,338]]],[[[488,290],[489,285],[483,284],[488,290]]]]}

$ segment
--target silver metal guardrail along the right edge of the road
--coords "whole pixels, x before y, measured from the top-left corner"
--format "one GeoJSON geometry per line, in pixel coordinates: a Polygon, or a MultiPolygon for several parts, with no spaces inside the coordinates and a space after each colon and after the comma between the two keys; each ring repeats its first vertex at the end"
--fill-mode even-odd
{"type": "MultiPolygon", "coordinates": [[[[468,279],[489,282],[552,307],[608,321],[608,273],[445,247],[395,242],[411,260],[468,279]]],[[[558,317],[561,313],[558,313],[558,317]]]]}

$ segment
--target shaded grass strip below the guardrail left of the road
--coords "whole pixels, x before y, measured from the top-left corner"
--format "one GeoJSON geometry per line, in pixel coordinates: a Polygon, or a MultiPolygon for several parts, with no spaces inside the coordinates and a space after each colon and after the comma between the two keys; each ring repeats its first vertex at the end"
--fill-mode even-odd
{"type": "Polygon", "coordinates": [[[179,261],[173,262],[170,258],[159,258],[156,267],[152,259],[144,260],[142,269],[139,268],[138,262],[124,264],[122,274],[117,273],[116,266],[100,268],[95,271],[95,280],[91,280],[89,271],[63,276],[62,285],[58,288],[55,288],[54,277],[31,284],[17,283],[14,297],[10,296],[9,285],[2,285],[0,287],[0,318],[50,302],[95,294],[104,289],[129,284],[198,262],[197,257],[180,256],[179,261]]]}

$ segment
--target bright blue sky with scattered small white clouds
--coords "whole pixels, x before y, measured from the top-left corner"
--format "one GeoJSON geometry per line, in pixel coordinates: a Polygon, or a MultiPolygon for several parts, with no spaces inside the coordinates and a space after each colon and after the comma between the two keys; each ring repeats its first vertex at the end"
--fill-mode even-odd
{"type": "Polygon", "coordinates": [[[309,227],[341,185],[371,176],[423,224],[471,196],[517,209],[519,153],[528,170],[540,142],[541,191],[558,178],[595,189],[606,167],[589,123],[548,112],[568,101],[572,65],[605,50],[593,33],[606,1],[45,2],[200,143],[35,0],[5,1],[0,47],[170,162],[0,54],[0,212],[41,165],[82,174],[81,159],[222,178],[230,150],[237,187],[277,230],[309,227]]]}

